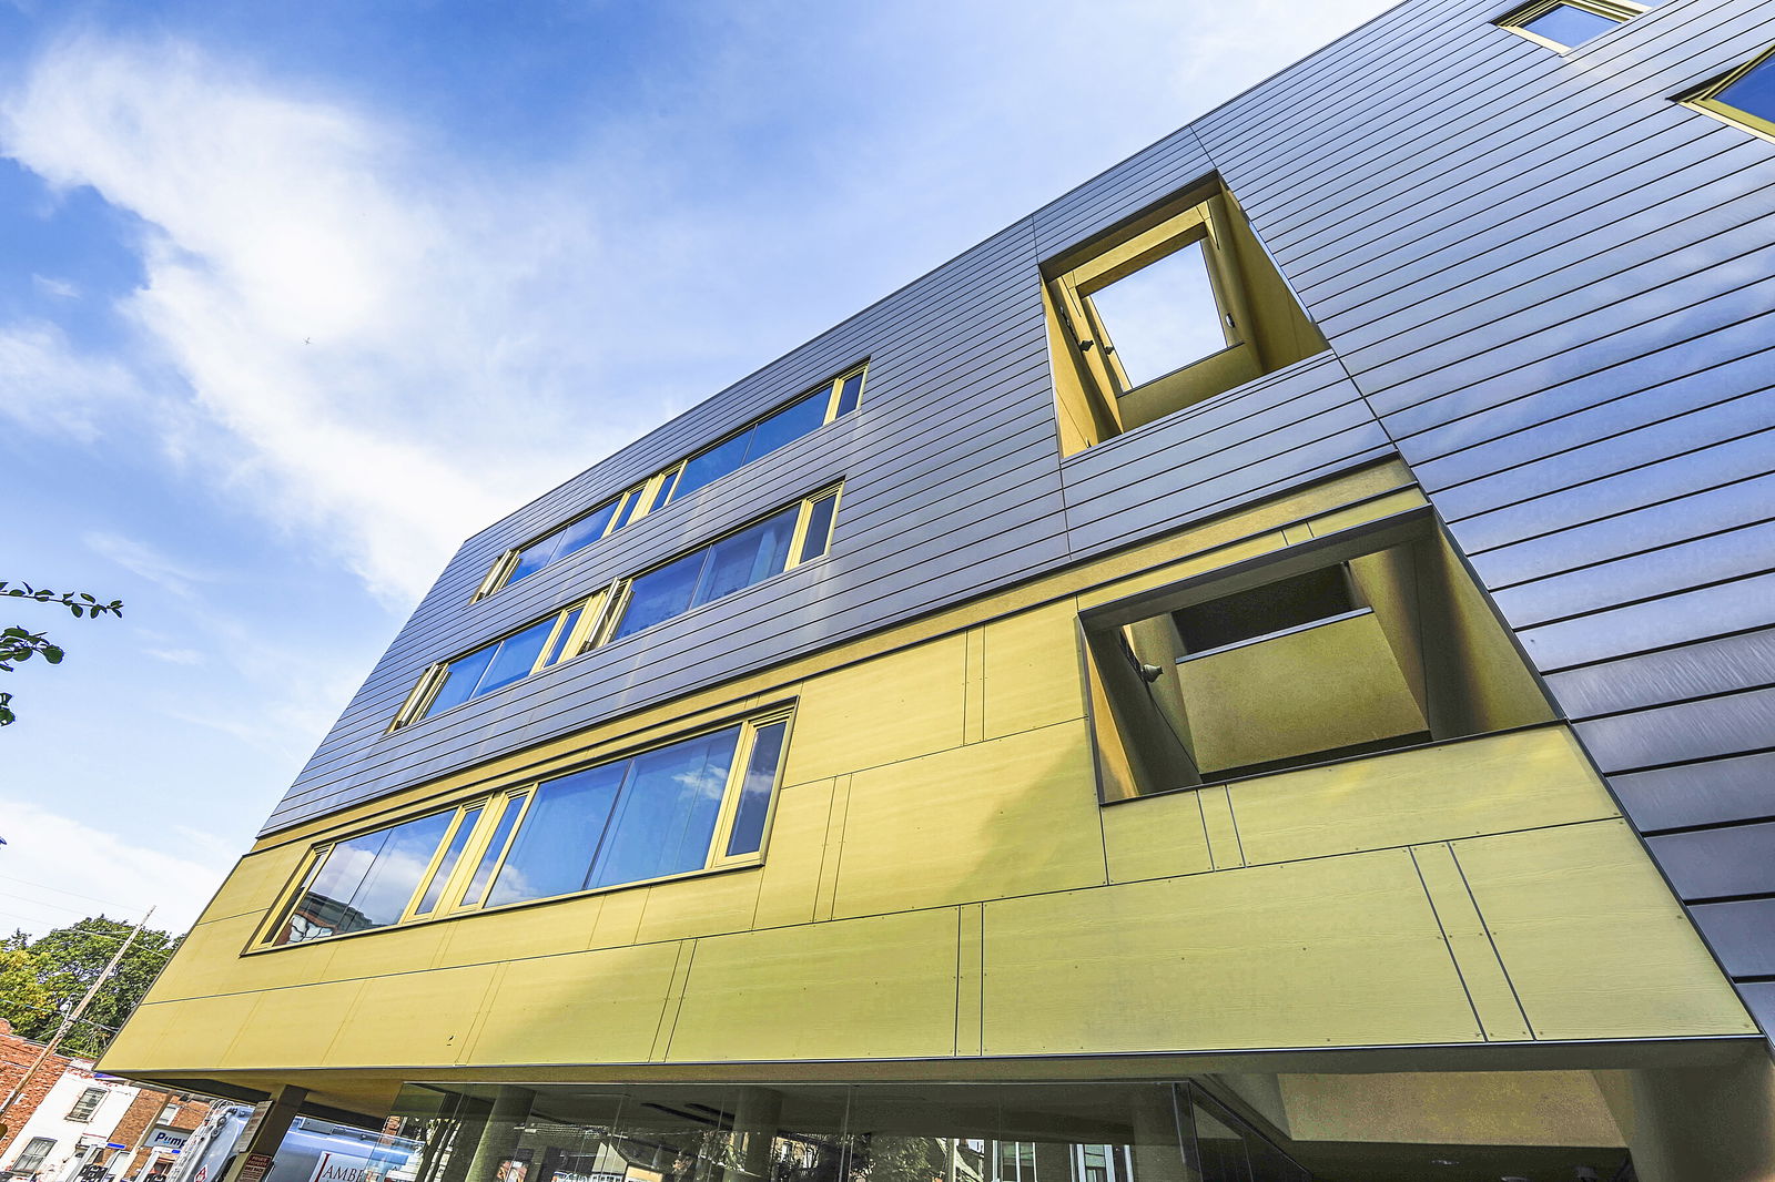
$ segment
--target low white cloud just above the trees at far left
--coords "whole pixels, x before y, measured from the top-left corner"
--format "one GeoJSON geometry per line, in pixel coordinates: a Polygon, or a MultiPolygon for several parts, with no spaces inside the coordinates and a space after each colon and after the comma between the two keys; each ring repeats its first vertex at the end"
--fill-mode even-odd
{"type": "MultiPolygon", "coordinates": [[[[178,841],[179,818],[167,827],[119,838],[85,820],[62,816],[28,800],[0,797],[5,816],[0,838],[0,919],[5,930],[23,926],[43,934],[103,910],[135,921],[149,907],[149,921],[172,934],[185,932],[215,894],[234,861],[222,843],[178,841]],[[188,855],[169,854],[176,845],[188,855]]],[[[234,843],[245,847],[245,841],[234,843]]]]}

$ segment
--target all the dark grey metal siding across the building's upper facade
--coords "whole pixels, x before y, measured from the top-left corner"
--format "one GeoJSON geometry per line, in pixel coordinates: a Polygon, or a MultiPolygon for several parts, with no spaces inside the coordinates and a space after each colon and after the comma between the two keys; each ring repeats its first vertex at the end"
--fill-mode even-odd
{"type": "Polygon", "coordinates": [[[1560,55],[1409,0],[470,538],[268,831],[1397,451],[1775,1008],[1775,144],[1672,0],[1560,55]],[[1335,353],[1061,460],[1038,263],[1218,170],[1335,353]],[[859,414],[469,603],[509,545],[863,357],[859,414]],[[433,660],[836,476],[827,559],[385,737],[433,660]],[[1771,978],[1763,981],[1761,978],[1771,978]]]}

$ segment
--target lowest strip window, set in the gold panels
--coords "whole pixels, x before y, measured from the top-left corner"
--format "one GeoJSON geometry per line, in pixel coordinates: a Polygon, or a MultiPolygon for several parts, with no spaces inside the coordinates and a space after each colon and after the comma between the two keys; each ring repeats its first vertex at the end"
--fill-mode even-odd
{"type": "Polygon", "coordinates": [[[264,946],[763,857],[792,712],[316,847],[264,946]]]}

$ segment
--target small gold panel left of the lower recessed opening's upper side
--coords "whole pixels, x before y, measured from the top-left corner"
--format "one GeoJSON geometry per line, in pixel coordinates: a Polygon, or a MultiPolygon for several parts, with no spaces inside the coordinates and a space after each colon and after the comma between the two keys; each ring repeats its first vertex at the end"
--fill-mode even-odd
{"type": "Polygon", "coordinates": [[[983,738],[1085,717],[1077,628],[1077,609],[1061,600],[980,630],[983,738]]]}

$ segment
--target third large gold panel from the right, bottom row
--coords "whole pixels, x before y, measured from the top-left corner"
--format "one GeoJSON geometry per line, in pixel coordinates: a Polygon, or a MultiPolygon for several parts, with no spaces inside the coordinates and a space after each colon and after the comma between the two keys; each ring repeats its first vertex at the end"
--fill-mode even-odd
{"type": "Polygon", "coordinates": [[[953,909],[698,941],[669,1056],[950,1054],[955,946],[953,909]]]}

